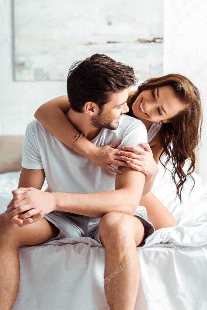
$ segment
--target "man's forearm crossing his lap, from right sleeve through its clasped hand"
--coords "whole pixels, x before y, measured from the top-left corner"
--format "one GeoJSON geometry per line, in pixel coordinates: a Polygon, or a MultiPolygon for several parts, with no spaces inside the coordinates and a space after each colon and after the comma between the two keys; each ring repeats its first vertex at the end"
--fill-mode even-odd
{"type": "MultiPolygon", "coordinates": [[[[13,223],[16,224],[22,224],[22,222],[19,223],[22,219],[36,216],[41,210],[44,214],[60,210],[91,217],[102,217],[109,212],[134,215],[142,196],[145,175],[130,167],[121,167],[121,169],[124,173],[116,176],[115,190],[87,194],[56,193],[54,195],[54,193],[46,193],[36,188],[28,188],[29,191],[26,191],[25,188],[25,192],[20,193],[20,200],[15,201],[15,207],[10,203],[6,214],[9,218],[12,217],[13,223]],[[50,197],[52,194],[53,197],[50,197]],[[41,202],[44,199],[48,202],[42,206],[41,202]],[[26,213],[17,219],[19,212],[26,213]]],[[[14,192],[18,193],[20,190],[21,188],[14,192]]]]}

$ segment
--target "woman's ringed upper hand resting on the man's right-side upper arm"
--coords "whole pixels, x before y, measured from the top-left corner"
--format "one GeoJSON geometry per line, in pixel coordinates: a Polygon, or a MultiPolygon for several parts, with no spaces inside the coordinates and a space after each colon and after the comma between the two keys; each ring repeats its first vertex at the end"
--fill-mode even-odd
{"type": "Polygon", "coordinates": [[[119,155],[120,160],[126,161],[128,166],[137,171],[142,171],[148,177],[157,174],[158,166],[154,160],[152,150],[148,143],[140,143],[144,148],[137,146],[122,146],[117,150],[116,154],[119,155]]]}

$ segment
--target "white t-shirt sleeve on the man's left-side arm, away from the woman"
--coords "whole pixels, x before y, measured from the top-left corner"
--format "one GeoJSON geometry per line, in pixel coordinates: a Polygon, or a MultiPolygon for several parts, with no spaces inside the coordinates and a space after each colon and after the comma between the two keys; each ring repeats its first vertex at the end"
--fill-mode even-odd
{"type": "Polygon", "coordinates": [[[43,169],[42,159],[33,135],[31,123],[27,126],[22,144],[22,167],[26,169],[43,169]]]}

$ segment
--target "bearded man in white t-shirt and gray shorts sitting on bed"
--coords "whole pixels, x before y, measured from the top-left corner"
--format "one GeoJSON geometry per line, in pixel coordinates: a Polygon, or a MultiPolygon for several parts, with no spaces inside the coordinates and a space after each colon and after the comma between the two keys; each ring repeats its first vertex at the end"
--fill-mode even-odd
{"type": "MultiPolygon", "coordinates": [[[[67,80],[68,119],[99,147],[120,138],[119,147],[147,142],[143,123],[122,115],[129,110],[127,88],[135,84],[134,70],[106,55],[95,54],[73,64],[67,80]]],[[[134,309],[140,277],[136,247],[154,232],[152,224],[139,216],[138,205],[151,182],[130,167],[114,175],[95,166],[37,120],[26,129],[22,167],[19,189],[13,191],[14,199],[0,215],[2,233],[9,235],[9,242],[1,241],[0,308],[11,309],[18,291],[18,247],[87,236],[105,247],[104,289],[110,309],[134,309]],[[55,194],[41,191],[45,176],[55,194]],[[107,281],[127,259],[130,264],[107,281]]]]}

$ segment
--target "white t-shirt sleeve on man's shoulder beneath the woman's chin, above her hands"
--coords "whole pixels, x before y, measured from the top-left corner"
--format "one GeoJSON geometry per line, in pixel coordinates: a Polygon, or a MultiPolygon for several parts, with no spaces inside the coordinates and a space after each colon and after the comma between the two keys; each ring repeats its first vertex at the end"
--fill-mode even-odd
{"type": "Polygon", "coordinates": [[[126,134],[123,134],[124,137],[117,148],[121,148],[121,146],[139,146],[141,149],[144,149],[140,146],[140,143],[148,143],[145,125],[139,121],[139,123],[135,122],[132,126],[134,128],[129,128],[129,133],[126,132],[126,134]]]}

